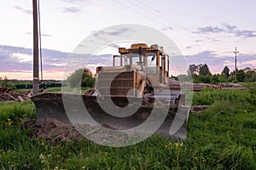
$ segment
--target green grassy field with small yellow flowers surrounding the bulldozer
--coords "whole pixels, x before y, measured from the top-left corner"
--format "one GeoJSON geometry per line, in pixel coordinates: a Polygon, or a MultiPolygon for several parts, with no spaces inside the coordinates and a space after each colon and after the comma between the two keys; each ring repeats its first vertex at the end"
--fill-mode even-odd
{"type": "MultiPolygon", "coordinates": [[[[254,88],[255,89],[255,88],[254,88]]],[[[154,135],[142,143],[110,148],[87,139],[50,143],[30,137],[31,101],[0,103],[2,169],[255,169],[256,93],[212,91],[194,94],[188,139],[181,143],[154,135]],[[254,94],[255,93],[255,94],[254,94]]]]}

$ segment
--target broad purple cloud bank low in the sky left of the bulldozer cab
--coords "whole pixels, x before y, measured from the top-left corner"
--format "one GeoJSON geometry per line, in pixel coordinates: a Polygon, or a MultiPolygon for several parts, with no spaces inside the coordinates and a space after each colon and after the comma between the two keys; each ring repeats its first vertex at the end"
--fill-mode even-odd
{"type": "MultiPolygon", "coordinates": [[[[95,72],[96,67],[92,67],[92,65],[112,65],[113,63],[113,54],[69,54],[58,50],[43,48],[42,56],[43,71],[48,73],[59,72],[60,75],[63,75],[64,71],[73,72],[84,66],[90,66],[91,71],[95,72]]],[[[3,77],[3,73],[7,72],[9,72],[9,75],[15,75],[15,73],[17,75],[31,73],[32,58],[31,48],[0,45],[0,77],[3,77]]],[[[6,76],[9,77],[9,75],[6,76]]]]}

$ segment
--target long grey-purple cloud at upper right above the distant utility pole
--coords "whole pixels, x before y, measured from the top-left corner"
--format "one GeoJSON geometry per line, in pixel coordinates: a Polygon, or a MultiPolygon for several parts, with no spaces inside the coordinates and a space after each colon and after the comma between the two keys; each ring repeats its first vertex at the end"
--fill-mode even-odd
{"type": "Polygon", "coordinates": [[[230,33],[236,37],[256,37],[256,31],[251,30],[240,30],[237,26],[231,26],[223,24],[221,27],[218,26],[205,26],[197,28],[196,34],[207,34],[207,33],[230,33]]]}

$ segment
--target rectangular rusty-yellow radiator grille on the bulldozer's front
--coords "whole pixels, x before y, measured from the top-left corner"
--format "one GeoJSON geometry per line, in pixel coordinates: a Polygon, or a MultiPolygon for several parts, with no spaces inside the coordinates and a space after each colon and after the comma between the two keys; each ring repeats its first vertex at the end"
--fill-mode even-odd
{"type": "MultiPolygon", "coordinates": [[[[136,72],[100,72],[97,90],[105,96],[126,96],[130,89],[136,88],[136,72]]],[[[132,91],[130,95],[135,95],[132,91]]]]}

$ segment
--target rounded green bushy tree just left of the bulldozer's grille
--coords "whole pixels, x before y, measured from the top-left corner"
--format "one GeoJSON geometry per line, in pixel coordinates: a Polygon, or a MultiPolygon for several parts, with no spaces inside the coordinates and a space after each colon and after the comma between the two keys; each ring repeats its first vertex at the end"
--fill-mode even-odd
{"type": "Polygon", "coordinates": [[[67,84],[71,88],[90,87],[92,88],[95,82],[95,78],[92,77],[92,73],[89,69],[79,69],[73,72],[72,75],[67,77],[67,84]]]}

